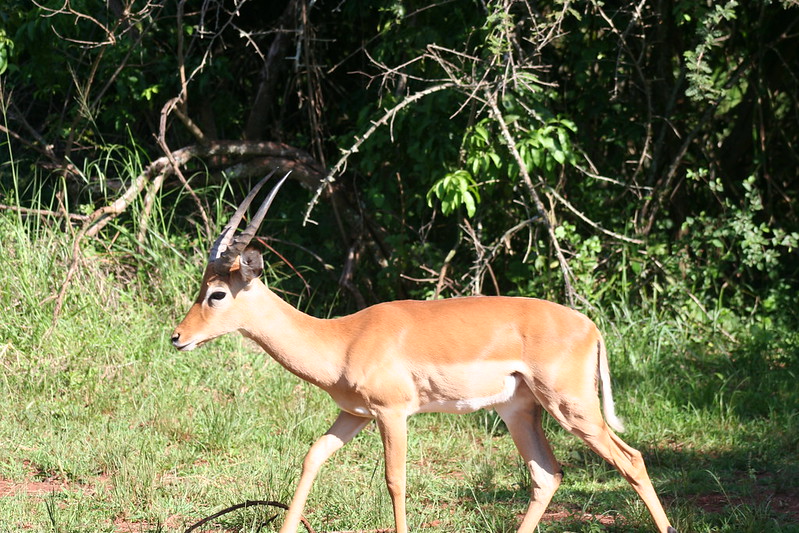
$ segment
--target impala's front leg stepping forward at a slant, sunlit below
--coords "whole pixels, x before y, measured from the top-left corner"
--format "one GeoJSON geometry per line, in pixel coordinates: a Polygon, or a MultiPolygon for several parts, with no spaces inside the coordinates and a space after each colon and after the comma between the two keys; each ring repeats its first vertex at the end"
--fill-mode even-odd
{"type": "Polygon", "coordinates": [[[327,430],[327,433],[319,437],[313,446],[311,446],[311,449],[308,450],[308,454],[305,456],[305,460],[302,463],[300,482],[297,484],[297,489],[294,491],[294,497],[291,499],[291,505],[286,513],[283,527],[280,528],[280,533],[297,533],[297,527],[300,525],[300,517],[305,507],[305,501],[308,499],[313,480],[316,478],[316,474],[319,472],[322,464],[324,464],[336,450],[351,441],[369,422],[371,422],[370,418],[362,418],[341,411],[336,421],[333,422],[333,425],[327,430]]]}

